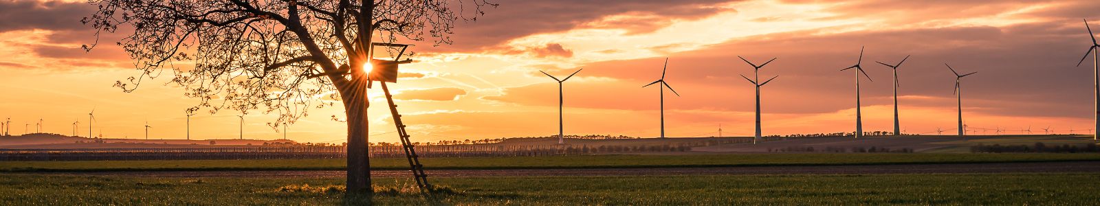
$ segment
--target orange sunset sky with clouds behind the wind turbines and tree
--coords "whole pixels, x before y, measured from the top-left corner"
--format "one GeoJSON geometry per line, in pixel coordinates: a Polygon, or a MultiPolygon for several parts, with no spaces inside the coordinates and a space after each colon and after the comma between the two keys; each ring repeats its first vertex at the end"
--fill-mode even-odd
{"type": "MultiPolygon", "coordinates": [[[[906,0],[580,0],[495,1],[474,22],[454,28],[451,45],[417,44],[418,73],[391,85],[414,141],[550,136],[558,133],[557,82],[564,82],[566,135],[660,135],[660,78],[669,137],[751,136],[754,85],[739,75],[760,64],[765,135],[851,131],[856,88],[849,67],[865,47],[860,79],[864,130],[892,130],[892,71],[897,64],[901,127],[909,134],[950,134],[956,128],[954,75],[963,79],[963,116],[970,134],[1088,134],[1093,125],[1091,58],[1081,19],[1100,23],[1100,1],[906,0]]],[[[127,93],[117,80],[140,75],[118,46],[90,53],[96,38],[79,20],[95,7],[84,1],[0,0],[0,117],[11,134],[42,131],[112,138],[186,138],[184,96],[168,78],[127,93]],[[33,16],[33,18],[31,18],[33,16]]],[[[1100,24],[1093,24],[1100,31],[1100,24]]],[[[117,39],[101,39],[113,43],[117,39]]],[[[170,72],[170,71],[166,71],[170,72]]],[[[170,77],[170,76],[166,76],[170,77]]],[[[370,141],[397,135],[381,90],[371,90],[370,141]]],[[[237,138],[234,111],[190,118],[193,139],[237,138]]],[[[275,114],[244,117],[246,139],[340,144],[340,106],[310,110],[287,133],[267,123],[275,114]],[[337,116],[333,119],[332,116],[337,116]]]]}

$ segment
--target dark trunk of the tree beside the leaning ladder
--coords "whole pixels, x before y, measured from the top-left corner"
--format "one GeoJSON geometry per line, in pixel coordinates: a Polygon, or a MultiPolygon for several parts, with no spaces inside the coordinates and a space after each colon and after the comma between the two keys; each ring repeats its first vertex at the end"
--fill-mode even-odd
{"type": "Polygon", "coordinates": [[[366,108],[370,102],[366,99],[365,78],[354,78],[348,81],[348,85],[337,87],[343,99],[344,112],[348,114],[348,193],[372,193],[370,147],[367,147],[367,133],[370,131],[366,116],[366,108]]]}

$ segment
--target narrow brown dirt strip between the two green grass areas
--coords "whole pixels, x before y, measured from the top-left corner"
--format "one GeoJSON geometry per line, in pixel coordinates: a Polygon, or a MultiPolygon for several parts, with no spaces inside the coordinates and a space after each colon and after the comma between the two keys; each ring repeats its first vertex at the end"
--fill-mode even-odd
{"type": "MultiPolygon", "coordinates": [[[[691,174],[895,174],[895,173],[1001,173],[1001,172],[1100,172],[1100,161],[956,163],[894,165],[790,165],[647,169],[514,169],[426,170],[429,176],[592,176],[592,175],[691,175],[691,174]]],[[[36,173],[44,174],[44,173],[36,173]]],[[[339,178],[343,171],[147,171],[147,172],[46,172],[62,175],[123,175],[157,178],[339,178]]],[[[374,176],[406,176],[408,171],[374,171],[374,176]]]]}

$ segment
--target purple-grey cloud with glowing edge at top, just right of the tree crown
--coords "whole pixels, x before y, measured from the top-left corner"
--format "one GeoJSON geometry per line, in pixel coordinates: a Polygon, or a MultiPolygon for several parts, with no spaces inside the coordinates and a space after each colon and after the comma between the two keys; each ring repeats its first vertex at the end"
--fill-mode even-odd
{"type": "Polygon", "coordinates": [[[732,1],[736,0],[502,0],[496,2],[499,7],[486,9],[485,16],[476,22],[459,23],[451,37],[453,45],[422,49],[473,52],[531,34],[585,27],[616,27],[635,34],[645,33],[670,25],[674,20],[701,19],[732,11],[716,7],[732,1]]]}

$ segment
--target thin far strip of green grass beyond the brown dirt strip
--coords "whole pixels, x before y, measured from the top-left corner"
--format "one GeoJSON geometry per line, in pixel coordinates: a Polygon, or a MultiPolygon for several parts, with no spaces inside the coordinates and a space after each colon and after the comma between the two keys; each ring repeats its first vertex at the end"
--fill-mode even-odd
{"type": "MultiPolygon", "coordinates": [[[[565,156],[424,158],[426,169],[672,168],[745,165],[855,165],[979,162],[1100,161],[1100,153],[765,153],[690,156],[565,156]]],[[[342,159],[0,161],[0,171],[163,171],[163,170],[342,170],[342,159]]],[[[372,159],[377,170],[400,170],[405,159],[372,159]]]]}

